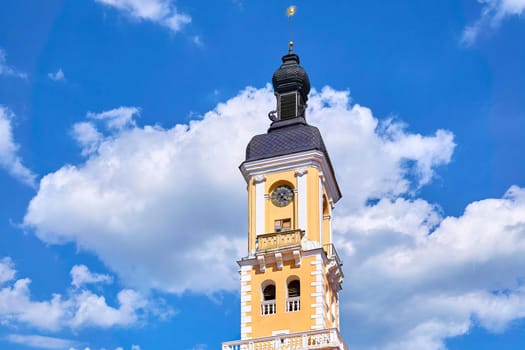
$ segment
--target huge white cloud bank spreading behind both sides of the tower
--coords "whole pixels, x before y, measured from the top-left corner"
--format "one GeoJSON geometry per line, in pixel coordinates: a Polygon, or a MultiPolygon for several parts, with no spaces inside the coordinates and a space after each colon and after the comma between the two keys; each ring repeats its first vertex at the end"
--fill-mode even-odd
{"type": "MultiPolygon", "coordinates": [[[[73,126],[85,131],[73,132],[85,161],[41,180],[24,223],[48,244],[94,253],[132,287],[237,291],[234,261],[246,255],[237,166],[274,103],[270,86],[246,88],[168,129],[138,126],[134,107],[89,114],[73,126]],[[116,120],[126,122],[111,127],[116,120]]],[[[451,161],[452,133],[413,133],[328,87],[312,92],[307,119],[321,129],[344,193],[334,237],[352,348],[443,349],[473,326],[500,331],[525,316],[525,190],[443,217],[417,194],[451,161]]]]}

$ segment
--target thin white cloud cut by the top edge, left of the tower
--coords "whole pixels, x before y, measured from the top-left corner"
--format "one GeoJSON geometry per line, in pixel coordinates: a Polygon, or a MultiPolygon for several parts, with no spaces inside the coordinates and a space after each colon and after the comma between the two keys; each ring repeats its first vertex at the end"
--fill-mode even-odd
{"type": "Polygon", "coordinates": [[[191,22],[191,17],[180,13],[171,0],[95,0],[122,11],[133,18],[151,21],[178,32],[191,22]]]}

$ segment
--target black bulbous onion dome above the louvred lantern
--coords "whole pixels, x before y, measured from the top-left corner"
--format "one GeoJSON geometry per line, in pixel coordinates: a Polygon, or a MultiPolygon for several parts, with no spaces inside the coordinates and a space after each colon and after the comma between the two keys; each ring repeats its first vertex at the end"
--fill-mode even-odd
{"type": "Polygon", "coordinates": [[[283,64],[273,73],[273,89],[278,94],[299,91],[306,102],[310,92],[310,79],[299,65],[299,56],[290,52],[282,57],[282,61],[283,64]]]}

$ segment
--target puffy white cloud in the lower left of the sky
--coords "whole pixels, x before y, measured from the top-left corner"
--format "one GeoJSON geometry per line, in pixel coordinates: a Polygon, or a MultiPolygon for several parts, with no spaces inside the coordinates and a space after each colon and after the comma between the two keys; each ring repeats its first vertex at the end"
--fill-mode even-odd
{"type": "MultiPolygon", "coordinates": [[[[7,261],[3,264],[13,269],[10,259],[2,261],[7,261]]],[[[85,283],[107,281],[109,278],[93,274],[87,268],[80,270],[80,273],[76,273],[79,269],[72,269],[72,283],[77,287],[85,283]]],[[[0,289],[0,324],[24,324],[48,331],[59,331],[64,327],[78,329],[131,326],[148,312],[150,305],[153,308],[157,307],[154,301],[148,301],[131,289],[124,289],[118,293],[118,307],[108,305],[102,295],[78,288],[68,293],[67,298],[54,294],[50,300],[35,301],[31,299],[30,283],[29,278],[23,278],[0,289]]]]}

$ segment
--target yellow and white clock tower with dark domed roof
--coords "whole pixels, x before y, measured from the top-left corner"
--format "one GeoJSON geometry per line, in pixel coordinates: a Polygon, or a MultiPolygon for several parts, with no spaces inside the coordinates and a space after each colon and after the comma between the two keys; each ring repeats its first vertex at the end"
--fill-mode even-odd
{"type": "Polygon", "coordinates": [[[310,80],[292,51],[272,83],[277,108],[267,133],[246,148],[247,254],[241,279],[241,340],[223,350],[339,349],[342,263],[332,241],[341,198],[319,129],[306,121],[310,80]]]}

